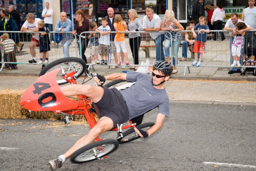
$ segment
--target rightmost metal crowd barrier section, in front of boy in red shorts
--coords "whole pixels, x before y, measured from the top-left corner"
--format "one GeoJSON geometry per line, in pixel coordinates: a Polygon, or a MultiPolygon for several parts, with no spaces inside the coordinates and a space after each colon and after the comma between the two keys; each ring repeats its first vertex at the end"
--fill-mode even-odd
{"type": "MultiPolygon", "coordinates": [[[[247,35],[246,38],[252,37],[252,41],[253,41],[253,37],[254,36],[252,36],[252,35],[255,35],[254,34],[255,31],[256,30],[247,31],[246,32],[247,33],[246,34],[247,35]]],[[[188,55],[189,55],[189,56],[187,56],[187,60],[179,61],[179,59],[182,58],[182,43],[183,43],[183,41],[185,41],[185,33],[186,32],[187,33],[191,33],[192,36],[193,36],[193,33],[191,31],[186,31],[186,30],[180,31],[180,33],[182,34],[182,36],[181,36],[182,41],[181,41],[181,44],[180,44],[180,50],[179,50],[177,56],[175,56],[175,55],[172,56],[172,57],[175,57],[176,59],[178,59],[178,60],[176,60],[176,65],[177,66],[182,66],[182,67],[184,66],[185,67],[185,69],[184,69],[184,76],[186,75],[186,71],[187,70],[190,73],[191,67],[196,67],[196,66],[192,66],[192,63],[193,63],[193,61],[195,59],[195,56],[192,53],[193,46],[191,47],[192,48],[191,53],[188,52],[188,50],[187,50],[188,55]]],[[[226,30],[211,30],[210,31],[209,34],[212,33],[211,39],[207,40],[206,43],[205,43],[205,51],[206,51],[206,53],[204,53],[203,56],[202,56],[203,62],[202,62],[200,67],[230,68],[230,65],[232,64],[230,62],[231,58],[232,58],[232,55],[230,55],[230,48],[229,48],[230,47],[230,35],[229,35],[229,32],[230,31],[226,31],[226,30]],[[218,32],[217,41],[213,41],[213,38],[214,38],[213,33],[215,33],[215,32],[218,32]],[[225,36],[225,40],[224,41],[220,40],[220,32],[224,33],[224,36],[225,36]]],[[[177,34],[176,34],[176,37],[177,37],[177,34]]],[[[254,41],[256,41],[256,40],[254,40],[254,41]]],[[[252,45],[252,42],[249,42],[249,44],[252,45]]],[[[231,45],[232,45],[232,42],[231,42],[231,45]]],[[[244,48],[247,48],[247,45],[244,44],[244,48]]],[[[244,64],[243,63],[244,48],[241,50],[241,56],[240,56],[240,64],[242,66],[239,67],[239,68],[255,68],[255,66],[243,66],[243,64],[244,64]]],[[[174,54],[176,54],[176,52],[174,54]]],[[[247,57],[247,54],[246,54],[246,57],[247,57]]],[[[198,60],[199,59],[197,59],[197,61],[198,60]]]]}

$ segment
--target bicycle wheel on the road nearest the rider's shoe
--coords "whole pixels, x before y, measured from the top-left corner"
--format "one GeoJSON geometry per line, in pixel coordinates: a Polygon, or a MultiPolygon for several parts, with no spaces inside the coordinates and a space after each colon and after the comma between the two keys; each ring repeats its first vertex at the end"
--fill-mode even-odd
{"type": "Polygon", "coordinates": [[[114,152],[118,148],[118,141],[115,139],[105,139],[85,145],[76,150],[70,160],[73,163],[84,163],[101,159],[102,157],[114,152]]]}

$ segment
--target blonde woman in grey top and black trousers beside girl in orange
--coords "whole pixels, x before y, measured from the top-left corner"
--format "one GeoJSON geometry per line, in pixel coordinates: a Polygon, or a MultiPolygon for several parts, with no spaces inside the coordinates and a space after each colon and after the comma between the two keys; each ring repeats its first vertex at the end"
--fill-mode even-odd
{"type": "MultiPolygon", "coordinates": [[[[128,11],[129,22],[128,30],[130,32],[143,31],[142,24],[140,22],[139,16],[134,9],[128,11]]],[[[140,33],[129,33],[129,43],[132,51],[132,57],[134,60],[134,65],[139,64],[139,47],[140,47],[140,33]]],[[[136,71],[138,66],[132,67],[136,71]]]]}

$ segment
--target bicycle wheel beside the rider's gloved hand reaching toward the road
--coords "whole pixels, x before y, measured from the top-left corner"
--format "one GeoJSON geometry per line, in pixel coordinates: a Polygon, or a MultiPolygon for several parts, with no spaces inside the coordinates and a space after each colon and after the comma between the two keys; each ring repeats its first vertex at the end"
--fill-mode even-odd
{"type": "MultiPolygon", "coordinates": [[[[140,124],[139,126],[136,126],[136,128],[146,131],[149,128],[151,128],[153,125],[155,125],[155,123],[152,123],[152,122],[143,123],[143,124],[140,124]]],[[[133,128],[125,131],[123,133],[123,136],[124,136],[123,138],[118,140],[119,144],[128,143],[128,142],[131,142],[135,139],[140,138],[139,134],[137,134],[137,132],[135,132],[135,130],[133,128]]]]}

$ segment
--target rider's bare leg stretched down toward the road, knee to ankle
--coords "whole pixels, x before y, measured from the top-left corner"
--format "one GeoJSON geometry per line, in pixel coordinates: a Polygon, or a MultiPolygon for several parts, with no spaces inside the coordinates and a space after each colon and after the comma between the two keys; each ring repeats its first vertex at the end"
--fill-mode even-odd
{"type": "Polygon", "coordinates": [[[64,153],[65,158],[71,156],[79,148],[92,143],[103,132],[111,130],[113,128],[113,121],[109,117],[103,116],[99,119],[98,123],[86,134],[80,138],[76,143],[64,153]]]}

